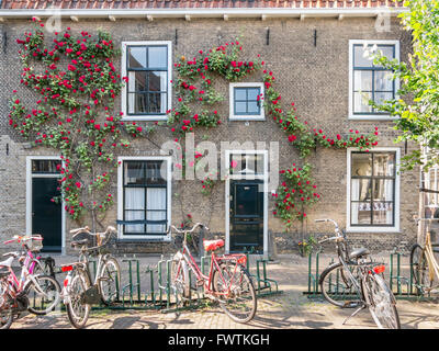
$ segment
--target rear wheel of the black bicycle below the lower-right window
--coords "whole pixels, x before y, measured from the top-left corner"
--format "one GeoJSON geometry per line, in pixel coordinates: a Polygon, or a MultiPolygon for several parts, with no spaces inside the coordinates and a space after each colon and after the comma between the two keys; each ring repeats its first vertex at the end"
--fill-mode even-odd
{"type": "Polygon", "coordinates": [[[380,329],[401,329],[395,297],[379,274],[368,274],[362,281],[364,296],[373,320],[380,329]]]}

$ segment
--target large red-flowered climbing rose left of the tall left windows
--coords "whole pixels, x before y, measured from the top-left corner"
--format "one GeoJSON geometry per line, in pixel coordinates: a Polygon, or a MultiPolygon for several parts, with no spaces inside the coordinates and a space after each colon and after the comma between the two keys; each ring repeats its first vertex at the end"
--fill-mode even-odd
{"type": "Polygon", "coordinates": [[[49,43],[44,24],[33,22],[33,31],[16,42],[21,45],[21,83],[36,98],[31,102],[27,93],[20,99],[14,90],[9,124],[35,146],[60,151],[61,196],[53,201],[64,199],[74,219],[90,212],[99,223],[113,204],[110,183],[117,154],[130,147],[130,137],[150,131],[122,122],[123,113],[114,107],[127,79],[113,65],[120,50],[109,34],[82,31],[76,35],[67,27],[55,32],[49,43]]]}

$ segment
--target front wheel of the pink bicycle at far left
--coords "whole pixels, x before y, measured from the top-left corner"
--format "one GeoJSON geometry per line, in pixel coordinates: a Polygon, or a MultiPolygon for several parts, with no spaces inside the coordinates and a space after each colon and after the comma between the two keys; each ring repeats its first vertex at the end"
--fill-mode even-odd
{"type": "Polygon", "coordinates": [[[52,276],[36,275],[34,278],[37,285],[32,282],[26,288],[30,303],[27,310],[34,315],[43,316],[54,310],[58,305],[61,287],[52,276]]]}

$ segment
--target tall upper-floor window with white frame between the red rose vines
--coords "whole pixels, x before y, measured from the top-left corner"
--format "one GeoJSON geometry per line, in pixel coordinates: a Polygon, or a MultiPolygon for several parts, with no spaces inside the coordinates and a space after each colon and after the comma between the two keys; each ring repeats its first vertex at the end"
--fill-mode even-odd
{"type": "Polygon", "coordinates": [[[166,120],[171,106],[171,42],[123,42],[125,120],[166,120]]]}

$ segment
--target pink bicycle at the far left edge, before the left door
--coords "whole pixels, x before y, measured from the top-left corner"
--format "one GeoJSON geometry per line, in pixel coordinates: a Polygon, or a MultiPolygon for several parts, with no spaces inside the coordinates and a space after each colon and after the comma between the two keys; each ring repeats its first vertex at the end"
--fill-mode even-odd
{"type": "Polygon", "coordinates": [[[46,315],[52,312],[60,299],[61,288],[52,276],[36,272],[40,262],[32,256],[32,249],[42,246],[43,238],[38,236],[15,236],[4,241],[23,242],[26,251],[8,252],[7,260],[0,262],[0,328],[9,328],[13,318],[24,310],[34,315],[46,315]],[[36,244],[35,244],[36,242],[36,244]],[[20,279],[12,270],[12,262],[19,258],[21,265],[20,279]],[[33,305],[30,303],[33,299],[33,305]]]}

